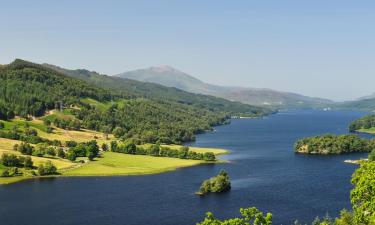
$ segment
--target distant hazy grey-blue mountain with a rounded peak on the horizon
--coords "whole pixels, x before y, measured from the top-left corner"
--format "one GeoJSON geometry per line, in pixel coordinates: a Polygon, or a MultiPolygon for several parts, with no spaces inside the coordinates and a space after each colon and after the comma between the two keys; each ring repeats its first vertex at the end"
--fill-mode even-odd
{"type": "Polygon", "coordinates": [[[327,99],[312,98],[271,89],[225,87],[204,83],[170,66],[150,67],[115,75],[116,77],[152,82],[184,91],[213,95],[242,103],[277,108],[321,108],[332,104],[327,99]]]}

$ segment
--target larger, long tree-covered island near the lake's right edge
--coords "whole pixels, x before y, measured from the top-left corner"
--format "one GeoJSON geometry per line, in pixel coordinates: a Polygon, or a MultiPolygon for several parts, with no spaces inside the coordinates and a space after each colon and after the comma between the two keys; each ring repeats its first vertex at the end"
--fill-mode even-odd
{"type": "Polygon", "coordinates": [[[294,149],[308,154],[341,154],[370,152],[375,149],[374,139],[361,139],[357,135],[323,135],[298,140],[294,149]]]}

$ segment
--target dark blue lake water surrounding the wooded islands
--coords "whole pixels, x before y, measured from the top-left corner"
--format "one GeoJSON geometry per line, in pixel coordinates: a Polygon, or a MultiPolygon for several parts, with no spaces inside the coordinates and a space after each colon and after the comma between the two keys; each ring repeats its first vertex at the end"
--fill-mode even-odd
{"type": "Polygon", "coordinates": [[[274,215],[274,224],[311,222],[350,208],[351,174],[345,159],[366,154],[294,154],[302,137],[347,133],[363,113],[296,111],[263,119],[233,120],[199,135],[196,146],[231,150],[227,164],[131,177],[28,180],[0,186],[1,225],[194,225],[212,211],[219,218],[256,206],[274,215]],[[232,190],[197,197],[202,180],[220,169],[229,172],[232,190]]]}

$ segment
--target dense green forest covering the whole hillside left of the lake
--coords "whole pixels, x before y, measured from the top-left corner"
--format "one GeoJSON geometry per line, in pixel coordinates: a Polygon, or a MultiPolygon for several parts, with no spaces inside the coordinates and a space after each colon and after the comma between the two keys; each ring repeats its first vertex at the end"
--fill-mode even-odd
{"type": "MultiPolygon", "coordinates": [[[[71,108],[72,115],[79,119],[76,125],[82,128],[105,133],[121,130],[121,137],[143,142],[181,143],[227,122],[233,113],[252,116],[270,113],[263,108],[203,95],[191,94],[193,102],[189,103],[182,99],[189,99],[190,94],[176,89],[165,98],[146,98],[134,91],[138,88],[129,84],[126,88],[121,82],[104,77],[98,75],[98,79],[104,79],[103,84],[111,81],[110,84],[98,87],[94,82],[72,78],[39,64],[15,60],[0,68],[0,119],[38,117],[48,110],[71,108]],[[120,86],[110,90],[115,83],[120,86]],[[172,96],[179,96],[176,93],[184,97],[171,100],[172,96]],[[105,107],[89,104],[87,99],[105,107]]],[[[164,95],[157,91],[150,95],[153,93],[164,95]]]]}

